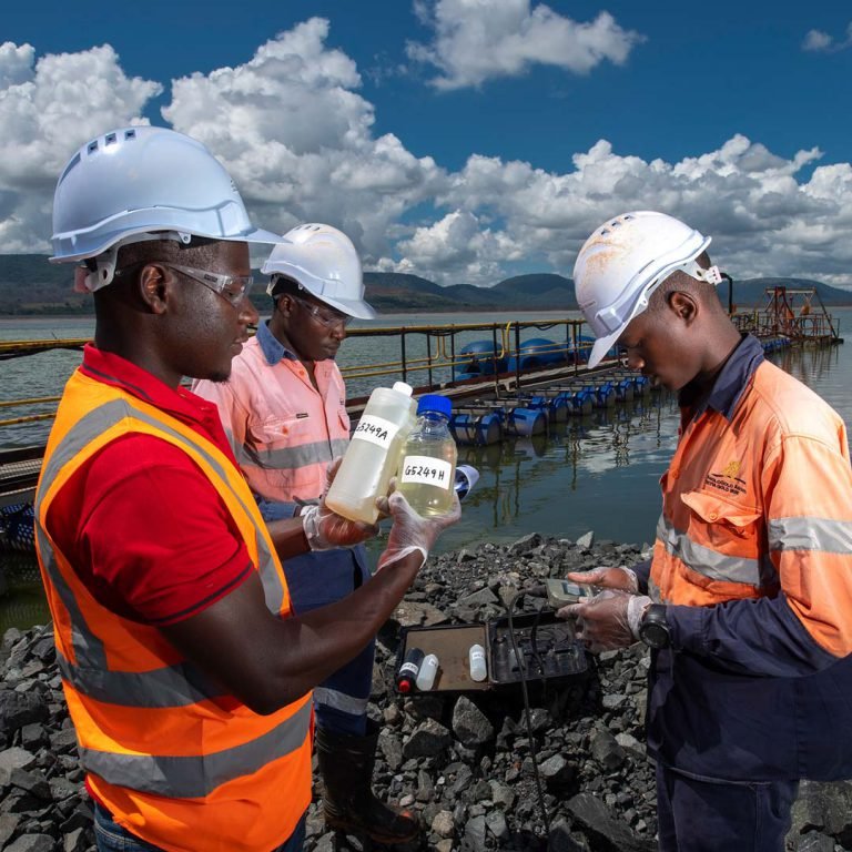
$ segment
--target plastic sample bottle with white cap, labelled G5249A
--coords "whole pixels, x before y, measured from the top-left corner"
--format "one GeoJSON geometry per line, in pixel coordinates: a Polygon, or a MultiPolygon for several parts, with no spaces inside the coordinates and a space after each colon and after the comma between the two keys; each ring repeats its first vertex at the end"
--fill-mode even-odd
{"type": "Polygon", "coordinates": [[[349,520],[375,524],[376,497],[387,494],[403,442],[412,428],[412,386],[377,387],[367,400],[325,505],[349,520]]]}

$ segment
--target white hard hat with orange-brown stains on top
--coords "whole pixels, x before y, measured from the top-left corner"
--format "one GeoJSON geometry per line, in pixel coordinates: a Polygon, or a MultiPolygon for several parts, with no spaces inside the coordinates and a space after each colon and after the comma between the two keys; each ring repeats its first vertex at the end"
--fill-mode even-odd
{"type": "Polygon", "coordinates": [[[589,356],[596,366],[627,324],[648,307],[651,293],[680,270],[718,284],[719,270],[696,257],[710,237],[665,213],[639,210],[610,219],[584,243],[574,265],[577,304],[597,337],[589,356]]]}

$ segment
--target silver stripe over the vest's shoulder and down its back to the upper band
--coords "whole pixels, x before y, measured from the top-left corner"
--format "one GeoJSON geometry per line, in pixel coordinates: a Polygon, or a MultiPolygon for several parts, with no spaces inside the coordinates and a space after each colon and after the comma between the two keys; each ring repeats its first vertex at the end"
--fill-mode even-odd
{"type": "MultiPolygon", "coordinates": [[[[223,483],[227,484],[225,469],[203,447],[187,439],[181,433],[172,429],[155,417],[151,417],[135,408],[125,399],[114,399],[92,409],[69,429],[48,459],[48,464],[42,473],[42,487],[39,489],[36,500],[36,534],[44,569],[62,602],[68,608],[72,620],[71,641],[74,648],[75,663],[72,667],[68,660],[64,660],[65,671],[63,671],[63,677],[80,692],[91,694],[101,701],[129,707],[180,707],[192,704],[204,698],[222,694],[221,689],[212,687],[212,684],[205,687],[206,679],[192,663],[184,663],[182,669],[166,667],[139,673],[108,670],[103,642],[88,629],[74,595],[65,584],[62,572],[58,569],[55,555],[50,546],[48,536],[38,521],[38,518],[41,517],[41,506],[49,484],[55,479],[64,465],[71,462],[103,432],[129,417],[150,424],[161,433],[174,436],[182,445],[196,450],[210,463],[223,483]],[[180,682],[181,671],[187,676],[183,684],[180,682]],[[145,686],[145,683],[149,686],[145,686]],[[159,691],[161,688],[163,688],[163,691],[159,691]],[[143,694],[144,698],[142,697],[143,694]]],[[[255,526],[260,562],[258,572],[263,584],[266,606],[271,611],[277,613],[284,589],[275,569],[275,562],[255,521],[254,514],[256,514],[256,508],[252,501],[253,514],[248,508],[248,504],[240,495],[234,491],[232,494],[240,501],[246,516],[252,519],[255,526]]]]}

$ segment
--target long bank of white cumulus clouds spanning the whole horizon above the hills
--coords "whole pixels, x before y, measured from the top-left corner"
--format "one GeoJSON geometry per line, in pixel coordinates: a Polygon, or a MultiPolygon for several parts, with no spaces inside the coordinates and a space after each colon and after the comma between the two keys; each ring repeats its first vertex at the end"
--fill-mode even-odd
{"type": "MultiPolygon", "coordinates": [[[[232,172],[252,219],[286,231],[326,221],[366,268],[489,285],[518,272],[571,274],[579,246],[617,213],[657,209],[713,236],[736,278],[795,275],[852,285],[852,165],[819,149],[781,156],[734,135],[668,162],[600,140],[564,171],[471,153],[458,171],[374,132],[374,106],[314,18],[242,65],[175,80],[163,116],[232,172]]],[[[0,245],[43,252],[55,178],[79,145],[139,121],[159,83],[128,78],[109,45],[37,59],[0,47],[0,245]]]]}

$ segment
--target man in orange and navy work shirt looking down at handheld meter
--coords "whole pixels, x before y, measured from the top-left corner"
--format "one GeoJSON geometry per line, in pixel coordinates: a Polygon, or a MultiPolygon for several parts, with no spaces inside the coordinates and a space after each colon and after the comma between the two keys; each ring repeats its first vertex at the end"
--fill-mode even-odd
{"type": "Polygon", "coordinates": [[[663,852],[781,852],[799,779],[852,777],[852,468],[843,420],[724,312],[709,237],[626,213],[586,241],[597,341],[679,393],[653,559],[569,574],[592,651],[651,648],[663,852]]]}

